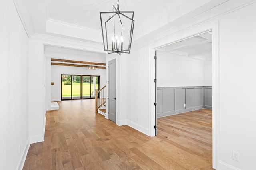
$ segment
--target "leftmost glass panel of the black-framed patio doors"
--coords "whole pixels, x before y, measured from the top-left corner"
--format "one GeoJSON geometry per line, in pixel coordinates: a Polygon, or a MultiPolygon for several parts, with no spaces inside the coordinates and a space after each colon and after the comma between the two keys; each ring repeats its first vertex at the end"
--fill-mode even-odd
{"type": "Polygon", "coordinates": [[[62,75],[62,100],[71,99],[71,75],[62,75]]]}

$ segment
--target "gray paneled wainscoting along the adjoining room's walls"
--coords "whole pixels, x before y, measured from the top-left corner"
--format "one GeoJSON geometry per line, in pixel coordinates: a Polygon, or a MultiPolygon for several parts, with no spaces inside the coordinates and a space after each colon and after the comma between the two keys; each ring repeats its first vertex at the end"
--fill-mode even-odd
{"type": "Polygon", "coordinates": [[[212,87],[157,87],[157,117],[212,109],[212,87]]]}

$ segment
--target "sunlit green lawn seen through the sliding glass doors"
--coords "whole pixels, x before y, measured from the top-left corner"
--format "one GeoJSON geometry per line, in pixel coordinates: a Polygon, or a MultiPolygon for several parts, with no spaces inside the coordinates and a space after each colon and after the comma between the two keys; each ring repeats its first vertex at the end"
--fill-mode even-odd
{"type": "MultiPolygon", "coordinates": [[[[62,96],[71,96],[71,85],[64,85],[65,81],[62,81],[62,96]]],[[[80,96],[80,82],[72,81],[73,85],[73,96],[80,96]]],[[[93,89],[93,84],[92,84],[93,89]]],[[[98,84],[96,84],[96,89],[98,89],[98,84]]],[[[90,96],[90,83],[83,82],[83,96],[90,96]]]]}

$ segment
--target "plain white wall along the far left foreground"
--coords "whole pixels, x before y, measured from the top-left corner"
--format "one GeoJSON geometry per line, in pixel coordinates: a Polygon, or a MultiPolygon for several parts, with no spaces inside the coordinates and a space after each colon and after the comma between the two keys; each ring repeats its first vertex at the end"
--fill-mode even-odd
{"type": "Polygon", "coordinates": [[[0,5],[0,55],[0,169],[14,170],[29,147],[28,36],[11,0],[0,5]]]}

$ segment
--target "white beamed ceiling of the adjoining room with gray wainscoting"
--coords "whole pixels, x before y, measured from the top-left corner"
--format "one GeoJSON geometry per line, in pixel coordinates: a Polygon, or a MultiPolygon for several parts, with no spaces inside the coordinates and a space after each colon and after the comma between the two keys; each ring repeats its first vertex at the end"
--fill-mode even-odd
{"type": "Polygon", "coordinates": [[[212,59],[212,33],[200,34],[180,42],[166,45],[158,50],[183,58],[208,61],[212,59]]]}

